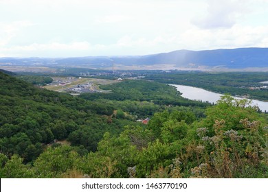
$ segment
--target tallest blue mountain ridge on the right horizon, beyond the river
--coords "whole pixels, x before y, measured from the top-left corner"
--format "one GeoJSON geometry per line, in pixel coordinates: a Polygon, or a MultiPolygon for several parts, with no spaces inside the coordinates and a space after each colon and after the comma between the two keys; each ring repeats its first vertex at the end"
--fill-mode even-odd
{"type": "Polygon", "coordinates": [[[144,56],[144,64],[176,64],[178,67],[225,67],[243,69],[267,67],[268,48],[215,49],[204,51],[179,50],[144,56]]]}

